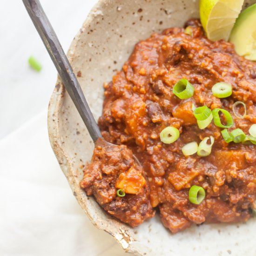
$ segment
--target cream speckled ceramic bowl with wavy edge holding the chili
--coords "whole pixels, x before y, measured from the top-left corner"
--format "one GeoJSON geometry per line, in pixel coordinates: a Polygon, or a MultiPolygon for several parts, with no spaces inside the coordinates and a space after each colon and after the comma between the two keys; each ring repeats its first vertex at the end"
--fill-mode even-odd
{"type": "MultiPolygon", "coordinates": [[[[164,28],[182,27],[189,18],[198,17],[198,10],[197,0],[98,2],[67,54],[96,119],[102,110],[103,82],[110,81],[121,68],[135,43],[164,28]]],[[[59,79],[49,104],[48,128],[54,153],[78,203],[91,222],[114,236],[127,252],[152,256],[256,255],[255,219],[241,224],[193,226],[172,235],[157,215],[135,229],[108,216],[79,187],[81,165],[90,161],[94,143],[59,79]]]]}

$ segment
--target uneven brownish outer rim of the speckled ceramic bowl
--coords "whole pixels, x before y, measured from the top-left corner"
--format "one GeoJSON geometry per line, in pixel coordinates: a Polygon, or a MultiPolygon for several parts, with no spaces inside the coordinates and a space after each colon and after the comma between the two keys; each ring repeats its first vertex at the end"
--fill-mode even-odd
{"type": "MultiPolygon", "coordinates": [[[[94,13],[96,13],[101,8],[104,8],[104,5],[109,4],[109,0],[98,0],[97,3],[92,7],[90,12],[88,13],[87,18],[83,22],[80,30],[74,36],[68,50],[67,50],[67,59],[72,63],[74,59],[74,49],[76,48],[77,42],[81,38],[81,31],[86,30],[89,27],[90,22],[94,19],[94,13]]],[[[135,255],[143,255],[143,252],[139,251],[132,245],[133,238],[128,230],[123,229],[121,225],[125,225],[120,223],[120,227],[113,230],[113,225],[106,224],[102,220],[97,219],[97,222],[94,220],[93,216],[89,213],[88,205],[83,200],[81,193],[82,189],[78,189],[74,186],[75,180],[72,175],[68,175],[71,173],[73,168],[72,161],[68,156],[67,152],[62,146],[61,142],[61,132],[60,132],[60,113],[61,108],[64,102],[64,95],[66,89],[61,81],[59,74],[57,74],[57,81],[55,83],[54,91],[51,95],[49,105],[48,105],[48,112],[47,112],[47,128],[48,128],[48,136],[51,147],[54,151],[54,154],[59,162],[61,170],[63,174],[66,176],[67,181],[69,183],[70,188],[73,191],[73,195],[76,197],[79,205],[89,217],[89,220],[93,223],[93,225],[100,230],[106,231],[108,234],[113,236],[115,240],[121,245],[121,248],[124,249],[126,252],[132,252],[135,255]]],[[[118,221],[117,221],[118,222],[118,221]]]]}

